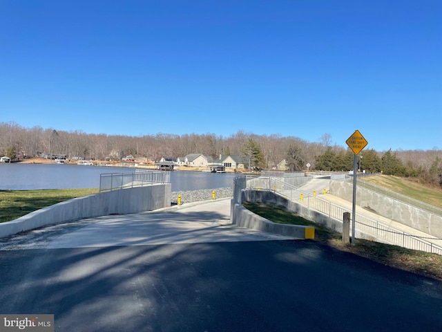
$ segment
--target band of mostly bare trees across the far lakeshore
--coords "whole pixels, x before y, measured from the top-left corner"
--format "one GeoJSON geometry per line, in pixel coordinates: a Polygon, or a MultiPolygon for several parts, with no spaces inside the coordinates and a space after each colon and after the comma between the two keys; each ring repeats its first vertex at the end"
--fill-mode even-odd
{"type": "MultiPolygon", "coordinates": [[[[213,159],[220,155],[243,156],[249,160],[251,167],[264,169],[287,167],[290,171],[302,171],[309,163],[311,171],[339,172],[353,169],[354,156],[347,147],[332,145],[329,133],[324,133],[318,142],[307,142],[294,136],[256,135],[244,131],[229,137],[215,133],[121,136],[26,128],[15,122],[0,122],[0,154],[13,161],[41,154],[65,154],[68,158],[87,160],[121,160],[131,155],[148,162],[195,153],[213,159]]],[[[358,155],[358,169],[410,176],[425,183],[441,185],[442,151],[364,149],[358,155]]]]}

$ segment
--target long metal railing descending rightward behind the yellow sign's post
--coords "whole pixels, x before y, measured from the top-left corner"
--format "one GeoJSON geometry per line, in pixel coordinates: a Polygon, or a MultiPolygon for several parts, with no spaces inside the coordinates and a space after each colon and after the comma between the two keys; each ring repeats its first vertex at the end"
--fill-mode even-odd
{"type": "MultiPolygon", "coordinates": [[[[244,176],[243,176],[244,177],[244,176]]],[[[255,190],[270,190],[276,194],[280,194],[290,201],[296,201],[305,207],[320,212],[329,216],[332,219],[342,222],[343,213],[348,212],[347,209],[336,205],[325,199],[320,199],[319,197],[313,196],[311,194],[304,194],[298,188],[288,183],[284,183],[277,178],[271,177],[254,177],[246,176],[244,183],[240,183],[235,179],[234,181],[234,198],[240,197],[240,190],[242,189],[255,189],[255,190]]],[[[238,199],[237,199],[238,201],[238,199]]],[[[242,203],[238,201],[239,203],[242,203]]],[[[401,246],[403,248],[409,248],[413,250],[421,250],[425,252],[432,252],[434,254],[442,255],[442,246],[436,245],[427,239],[441,240],[437,238],[427,237],[416,237],[415,235],[408,234],[401,230],[396,230],[389,225],[385,225],[380,221],[367,218],[361,214],[356,214],[355,216],[356,230],[360,232],[365,232],[366,234],[373,235],[376,239],[382,240],[384,242],[394,244],[396,246],[401,246]]]]}

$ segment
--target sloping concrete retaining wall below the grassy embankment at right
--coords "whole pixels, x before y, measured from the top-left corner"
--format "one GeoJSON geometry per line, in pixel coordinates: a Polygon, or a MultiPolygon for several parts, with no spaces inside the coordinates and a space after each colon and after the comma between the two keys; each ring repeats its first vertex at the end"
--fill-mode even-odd
{"type": "MultiPolygon", "coordinates": [[[[346,181],[330,181],[330,194],[351,202],[353,185],[346,181]]],[[[442,217],[436,214],[358,186],[356,186],[356,205],[434,237],[442,238],[442,217]]]]}

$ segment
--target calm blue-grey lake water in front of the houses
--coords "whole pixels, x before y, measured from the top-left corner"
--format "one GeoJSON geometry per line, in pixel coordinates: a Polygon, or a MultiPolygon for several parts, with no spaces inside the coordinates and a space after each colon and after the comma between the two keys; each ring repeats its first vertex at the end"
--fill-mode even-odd
{"type": "MultiPolygon", "coordinates": [[[[98,188],[104,173],[129,173],[128,167],[0,163],[0,190],[98,188]]],[[[172,191],[233,187],[238,174],[171,172],[172,191]]]]}

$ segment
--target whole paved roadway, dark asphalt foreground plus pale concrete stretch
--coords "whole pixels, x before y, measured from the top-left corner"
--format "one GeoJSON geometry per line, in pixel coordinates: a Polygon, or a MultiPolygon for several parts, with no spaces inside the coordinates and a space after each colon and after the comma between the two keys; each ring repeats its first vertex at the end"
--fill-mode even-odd
{"type": "Polygon", "coordinates": [[[52,313],[55,331],[441,330],[442,282],[234,228],[226,203],[3,240],[0,313],[52,313]]]}

